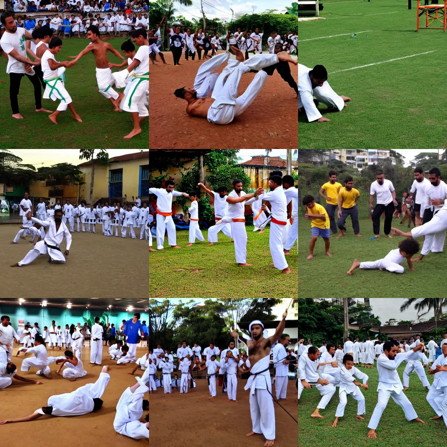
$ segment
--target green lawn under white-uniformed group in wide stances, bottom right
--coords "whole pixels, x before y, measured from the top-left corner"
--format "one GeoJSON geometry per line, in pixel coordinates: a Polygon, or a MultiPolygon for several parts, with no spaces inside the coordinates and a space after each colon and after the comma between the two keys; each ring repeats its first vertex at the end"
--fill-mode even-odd
{"type": "MultiPolygon", "coordinates": [[[[397,368],[399,377],[402,380],[406,363],[402,363],[397,368]]],[[[338,419],[337,428],[332,427],[335,419],[335,410],[339,402],[338,388],[332,396],[329,404],[320,414],[324,419],[310,417],[313,410],[316,409],[320,401],[320,392],[315,388],[304,389],[298,405],[298,423],[302,429],[298,435],[298,446],[343,446],[343,447],[363,447],[377,446],[382,447],[408,447],[414,445],[438,445],[445,443],[447,431],[443,419],[430,421],[430,417],[435,416],[434,410],[426,401],[427,391],[422,386],[415,371],[410,374],[409,390],[405,392],[409,401],[412,403],[417,416],[427,424],[419,422],[408,422],[405,419],[404,411],[390,398],[387,408],[376,429],[377,439],[369,439],[368,423],[371,419],[374,407],[377,404],[377,385],[379,375],[377,368],[371,369],[358,368],[368,375],[368,389],[363,390],[363,396],[366,401],[366,414],[363,414],[364,421],[357,421],[357,401],[348,396],[348,403],[345,408],[345,415],[338,419]]],[[[425,371],[428,370],[428,366],[425,371]]],[[[433,382],[434,375],[427,374],[430,384],[433,382]]],[[[360,383],[363,383],[360,380],[360,383]]]]}

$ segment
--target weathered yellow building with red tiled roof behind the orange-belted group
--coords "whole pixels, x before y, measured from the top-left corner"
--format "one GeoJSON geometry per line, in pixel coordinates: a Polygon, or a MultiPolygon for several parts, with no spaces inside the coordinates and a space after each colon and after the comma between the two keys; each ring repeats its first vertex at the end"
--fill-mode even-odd
{"type": "MultiPolygon", "coordinates": [[[[244,168],[245,173],[250,177],[250,187],[253,189],[269,189],[269,177],[272,171],[280,170],[283,175],[287,174],[287,160],[281,157],[270,157],[268,155],[255,155],[251,160],[236,164],[244,168]]],[[[298,172],[298,161],[292,161],[292,169],[298,172]]]]}

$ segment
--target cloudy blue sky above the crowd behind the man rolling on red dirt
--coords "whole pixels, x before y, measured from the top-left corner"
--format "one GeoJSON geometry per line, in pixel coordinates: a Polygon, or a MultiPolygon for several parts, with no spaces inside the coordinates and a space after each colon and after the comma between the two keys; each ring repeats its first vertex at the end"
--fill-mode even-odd
{"type": "MultiPolygon", "coordinates": [[[[149,0],[155,1],[155,0],[149,0]]],[[[277,13],[285,13],[286,6],[291,6],[291,1],[285,0],[275,0],[272,2],[271,0],[253,0],[253,1],[244,1],[244,0],[203,0],[203,12],[206,17],[209,19],[218,18],[221,21],[231,21],[233,9],[235,16],[233,20],[235,20],[236,15],[242,16],[243,14],[259,14],[264,12],[266,9],[278,9],[277,13]],[[206,2],[206,3],[205,3],[206,2]],[[213,6],[210,6],[213,5],[213,6]]],[[[174,7],[178,10],[175,13],[175,17],[182,15],[186,19],[192,21],[193,18],[197,20],[202,18],[202,12],[200,9],[200,0],[193,0],[193,6],[183,6],[178,2],[174,2],[174,7]]],[[[171,25],[171,24],[169,24],[171,25]]]]}

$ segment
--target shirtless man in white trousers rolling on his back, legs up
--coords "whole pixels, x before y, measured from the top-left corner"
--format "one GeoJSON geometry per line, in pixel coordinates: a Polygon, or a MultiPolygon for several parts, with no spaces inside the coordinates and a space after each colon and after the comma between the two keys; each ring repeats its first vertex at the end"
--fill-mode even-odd
{"type": "MultiPolygon", "coordinates": [[[[229,122],[232,122],[233,118],[239,114],[241,114],[250,104],[253,102],[254,98],[256,97],[257,93],[260,91],[262,84],[265,82],[267,78],[267,74],[265,72],[257,73],[257,75],[254,77],[252,83],[247,88],[247,91],[249,92],[248,96],[251,97],[245,97],[245,93],[241,95],[240,97],[236,98],[236,105],[234,105],[234,98],[232,102],[226,102],[228,101],[227,96],[228,94],[234,94],[234,89],[236,89],[237,95],[237,86],[240,82],[240,77],[235,76],[232,77],[232,74],[236,75],[235,70],[238,69],[237,67],[241,67],[240,70],[244,72],[248,72],[247,68],[255,68],[260,70],[262,67],[266,67],[269,65],[273,65],[277,63],[278,61],[287,61],[292,62],[295,65],[298,64],[294,59],[290,57],[285,51],[281,51],[277,53],[276,55],[257,55],[256,58],[253,57],[251,59],[248,59],[245,61],[244,55],[242,52],[236,48],[236,46],[231,45],[232,51],[236,54],[236,59],[241,64],[235,65],[234,59],[230,59],[228,62],[228,66],[223,69],[223,72],[220,76],[223,76],[223,80],[219,83],[219,78],[216,80],[215,84],[221,85],[223,83],[231,82],[232,88],[231,89],[223,89],[220,88],[219,92],[213,92],[213,95],[211,98],[198,98],[197,97],[197,91],[195,89],[191,88],[182,88],[177,89],[174,92],[174,95],[185,99],[188,102],[188,105],[186,106],[186,113],[191,116],[198,116],[201,118],[208,118],[208,121],[213,122],[215,124],[228,124],[229,122]],[[230,65],[231,62],[231,65],[230,65]],[[242,64],[243,63],[243,64],[242,64]],[[244,68],[243,65],[246,65],[247,68],[244,68]],[[245,71],[246,70],[246,71],[245,71]],[[228,72],[230,72],[230,76],[228,76],[228,72]],[[228,77],[227,77],[228,76],[228,77]],[[258,76],[258,78],[257,78],[258,76]],[[224,81],[226,77],[226,80],[224,81]],[[252,85],[253,84],[253,85],[252,85]],[[221,93],[224,93],[223,97],[221,96],[221,93]],[[238,100],[240,101],[240,104],[238,103],[238,100]],[[209,110],[212,108],[213,103],[216,102],[216,104],[219,105],[219,107],[215,107],[215,111],[209,110]],[[233,103],[233,104],[232,104],[233,103]],[[210,118],[208,117],[210,115],[210,118]]],[[[229,59],[229,51],[225,52],[228,57],[226,60],[229,59]]],[[[223,54],[222,54],[223,55],[223,54]]],[[[219,55],[222,56],[222,55],[219,55]]],[[[217,56],[215,56],[215,59],[217,60],[217,56]]],[[[210,62],[210,61],[208,61],[210,62]]],[[[203,67],[204,64],[202,64],[203,67]]],[[[219,77],[220,77],[219,76],[219,77]]]]}

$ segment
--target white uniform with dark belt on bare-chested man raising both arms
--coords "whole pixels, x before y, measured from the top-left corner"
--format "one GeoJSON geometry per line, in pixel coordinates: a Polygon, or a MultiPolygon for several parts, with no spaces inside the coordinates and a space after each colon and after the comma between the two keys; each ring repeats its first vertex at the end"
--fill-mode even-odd
{"type": "MultiPolygon", "coordinates": [[[[250,388],[250,415],[253,432],[262,433],[266,439],[275,439],[275,409],[271,396],[272,384],[268,370],[269,365],[270,355],[254,363],[244,389],[247,391],[250,388]]],[[[315,375],[318,377],[316,372],[315,375]]],[[[326,386],[332,387],[335,392],[333,385],[326,386]]]]}

